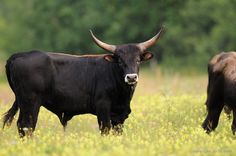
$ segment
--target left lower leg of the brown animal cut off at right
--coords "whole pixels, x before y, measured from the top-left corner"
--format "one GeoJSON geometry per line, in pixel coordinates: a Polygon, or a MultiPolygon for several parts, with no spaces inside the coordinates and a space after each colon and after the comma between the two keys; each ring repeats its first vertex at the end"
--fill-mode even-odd
{"type": "Polygon", "coordinates": [[[206,130],[207,133],[210,133],[217,127],[223,106],[221,102],[218,102],[216,105],[211,105],[211,107],[208,108],[207,117],[202,124],[202,128],[206,130]]]}

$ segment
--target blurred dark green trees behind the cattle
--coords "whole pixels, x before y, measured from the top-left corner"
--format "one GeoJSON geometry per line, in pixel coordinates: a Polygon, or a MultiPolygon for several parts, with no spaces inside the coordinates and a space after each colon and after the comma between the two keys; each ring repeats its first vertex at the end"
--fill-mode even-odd
{"type": "Polygon", "coordinates": [[[89,29],[110,44],[145,41],[166,28],[150,49],[166,69],[206,72],[208,60],[235,50],[235,0],[1,0],[0,71],[20,51],[104,53],[89,29]]]}

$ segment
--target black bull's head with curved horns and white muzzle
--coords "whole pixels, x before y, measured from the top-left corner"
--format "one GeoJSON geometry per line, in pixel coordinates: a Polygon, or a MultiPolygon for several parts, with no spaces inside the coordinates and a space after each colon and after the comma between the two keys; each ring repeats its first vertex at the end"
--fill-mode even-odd
{"type": "Polygon", "coordinates": [[[124,74],[124,80],[129,85],[136,84],[138,82],[139,65],[143,61],[150,60],[153,54],[146,51],[149,47],[154,45],[161,36],[164,28],[151,39],[142,43],[122,44],[122,45],[110,45],[100,41],[96,38],[93,32],[90,30],[93,41],[101,48],[105,49],[112,54],[104,56],[104,59],[109,62],[118,63],[124,74]]]}

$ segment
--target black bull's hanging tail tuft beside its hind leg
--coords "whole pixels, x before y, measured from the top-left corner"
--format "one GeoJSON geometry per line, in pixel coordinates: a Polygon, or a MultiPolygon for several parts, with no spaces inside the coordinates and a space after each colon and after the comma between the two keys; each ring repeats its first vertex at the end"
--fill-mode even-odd
{"type": "Polygon", "coordinates": [[[17,102],[15,101],[13,103],[12,107],[4,114],[3,127],[2,127],[3,129],[4,129],[5,125],[7,125],[7,126],[11,125],[17,111],[18,111],[18,105],[17,105],[17,102]]]}

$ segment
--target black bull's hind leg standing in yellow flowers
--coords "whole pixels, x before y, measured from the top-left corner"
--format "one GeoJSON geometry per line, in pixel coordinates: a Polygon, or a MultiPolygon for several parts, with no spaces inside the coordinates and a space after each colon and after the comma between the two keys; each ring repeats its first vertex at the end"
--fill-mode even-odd
{"type": "Polygon", "coordinates": [[[40,101],[36,96],[22,99],[19,103],[20,114],[17,127],[20,137],[31,136],[35,130],[40,109],[40,101]]]}

